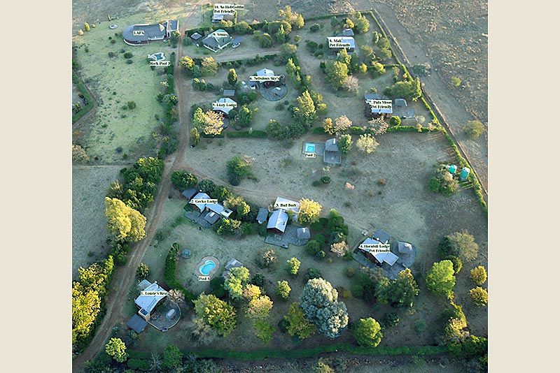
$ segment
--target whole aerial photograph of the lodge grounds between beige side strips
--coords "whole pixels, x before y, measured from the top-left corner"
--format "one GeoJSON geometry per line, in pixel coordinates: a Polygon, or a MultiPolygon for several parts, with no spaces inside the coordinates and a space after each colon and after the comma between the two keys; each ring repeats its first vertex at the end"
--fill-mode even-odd
{"type": "Polygon", "coordinates": [[[486,0],[71,7],[73,372],[488,371],[486,0]]]}

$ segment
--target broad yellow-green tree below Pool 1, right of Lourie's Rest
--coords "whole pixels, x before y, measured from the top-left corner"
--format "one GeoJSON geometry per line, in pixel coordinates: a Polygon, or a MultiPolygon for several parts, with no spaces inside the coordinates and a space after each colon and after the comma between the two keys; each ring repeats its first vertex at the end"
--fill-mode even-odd
{"type": "Polygon", "coordinates": [[[219,335],[227,337],[235,329],[237,325],[235,308],[228,302],[224,302],[212,294],[204,293],[193,302],[196,314],[209,326],[216,328],[219,335]]]}

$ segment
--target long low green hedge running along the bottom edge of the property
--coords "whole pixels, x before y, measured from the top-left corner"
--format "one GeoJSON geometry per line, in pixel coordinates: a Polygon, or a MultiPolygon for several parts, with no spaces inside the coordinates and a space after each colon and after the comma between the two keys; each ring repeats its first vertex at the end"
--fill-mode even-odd
{"type": "MultiPolygon", "coordinates": [[[[299,359],[312,358],[320,353],[329,353],[335,351],[344,351],[349,353],[357,353],[359,355],[436,355],[446,353],[445,346],[377,346],[374,348],[354,346],[349,343],[329,344],[325,346],[316,346],[310,349],[262,349],[258,351],[235,351],[235,350],[215,350],[204,349],[200,351],[183,350],[183,355],[194,355],[197,358],[230,358],[235,360],[262,360],[265,358],[282,358],[282,359],[299,359]]],[[[127,350],[130,358],[135,360],[150,360],[151,353],[146,351],[127,350]]]]}

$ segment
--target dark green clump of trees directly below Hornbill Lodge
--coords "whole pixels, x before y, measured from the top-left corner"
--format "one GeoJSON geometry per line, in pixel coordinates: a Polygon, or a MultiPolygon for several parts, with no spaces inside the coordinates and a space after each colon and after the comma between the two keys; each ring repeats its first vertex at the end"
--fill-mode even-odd
{"type": "Polygon", "coordinates": [[[351,288],[356,298],[388,303],[393,307],[412,307],[414,297],[419,294],[419,287],[409,268],[398,273],[394,280],[382,275],[379,268],[363,268],[360,275],[354,277],[351,288]]]}

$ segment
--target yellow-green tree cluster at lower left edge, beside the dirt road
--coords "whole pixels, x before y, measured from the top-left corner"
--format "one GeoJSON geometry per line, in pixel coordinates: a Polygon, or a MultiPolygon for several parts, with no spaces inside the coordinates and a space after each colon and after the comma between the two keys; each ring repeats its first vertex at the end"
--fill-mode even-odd
{"type": "Polygon", "coordinates": [[[104,308],[107,288],[113,274],[113,257],[80,268],[78,281],[72,282],[72,344],[83,349],[93,337],[97,316],[104,308]]]}

